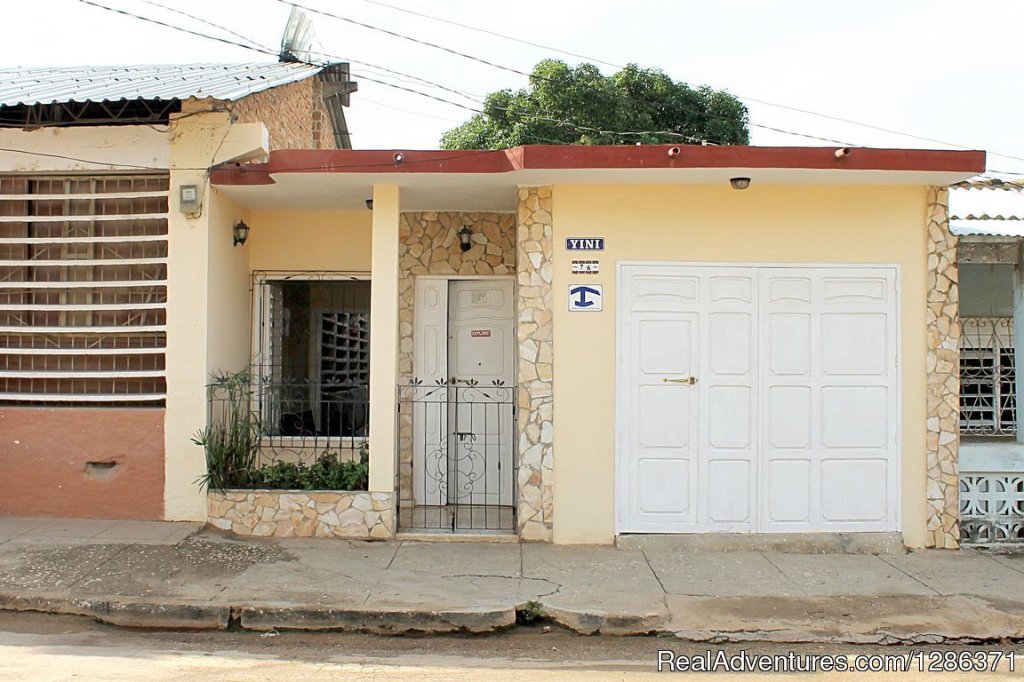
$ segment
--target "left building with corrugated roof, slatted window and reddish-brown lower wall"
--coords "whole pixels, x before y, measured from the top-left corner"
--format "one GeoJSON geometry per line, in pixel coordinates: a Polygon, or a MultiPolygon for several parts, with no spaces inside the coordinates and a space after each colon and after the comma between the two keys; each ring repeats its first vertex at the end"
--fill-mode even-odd
{"type": "Polygon", "coordinates": [[[0,70],[0,514],[202,515],[188,438],[249,300],[209,169],[349,147],[354,89],[344,63],[0,70]]]}

